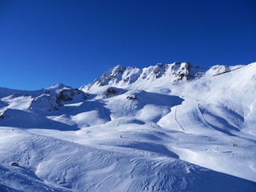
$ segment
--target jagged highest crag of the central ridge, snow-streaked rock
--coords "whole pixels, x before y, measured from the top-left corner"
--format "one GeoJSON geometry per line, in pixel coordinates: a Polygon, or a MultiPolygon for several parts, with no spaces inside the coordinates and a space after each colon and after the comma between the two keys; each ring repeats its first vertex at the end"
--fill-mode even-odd
{"type": "Polygon", "coordinates": [[[82,86],[82,90],[93,89],[94,86],[129,86],[135,82],[154,81],[159,78],[170,78],[170,82],[190,81],[198,77],[197,72],[202,68],[193,66],[190,62],[174,62],[173,64],[157,63],[140,69],[136,66],[114,66],[111,70],[102,74],[88,86],[82,86]]]}

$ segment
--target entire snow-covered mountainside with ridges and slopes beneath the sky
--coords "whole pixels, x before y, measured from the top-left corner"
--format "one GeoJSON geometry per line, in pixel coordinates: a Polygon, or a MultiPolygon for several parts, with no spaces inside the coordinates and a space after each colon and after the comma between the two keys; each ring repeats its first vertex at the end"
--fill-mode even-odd
{"type": "Polygon", "coordinates": [[[256,63],[0,88],[0,191],[254,192],[255,93],[256,63]]]}

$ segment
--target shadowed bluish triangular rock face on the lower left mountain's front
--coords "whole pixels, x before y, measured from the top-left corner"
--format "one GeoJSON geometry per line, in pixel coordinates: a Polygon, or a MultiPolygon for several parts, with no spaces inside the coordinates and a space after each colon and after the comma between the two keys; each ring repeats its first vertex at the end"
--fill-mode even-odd
{"type": "Polygon", "coordinates": [[[52,111],[58,110],[62,107],[62,102],[53,95],[42,94],[37,98],[34,98],[28,107],[28,110],[31,111],[52,111]]]}

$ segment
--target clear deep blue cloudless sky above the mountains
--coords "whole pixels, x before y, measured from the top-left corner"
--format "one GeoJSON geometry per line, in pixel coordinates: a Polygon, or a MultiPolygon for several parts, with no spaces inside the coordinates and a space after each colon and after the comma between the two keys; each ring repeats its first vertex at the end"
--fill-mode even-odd
{"type": "Polygon", "coordinates": [[[0,86],[78,88],[116,65],[246,65],[255,10],[255,0],[0,0],[0,86]]]}

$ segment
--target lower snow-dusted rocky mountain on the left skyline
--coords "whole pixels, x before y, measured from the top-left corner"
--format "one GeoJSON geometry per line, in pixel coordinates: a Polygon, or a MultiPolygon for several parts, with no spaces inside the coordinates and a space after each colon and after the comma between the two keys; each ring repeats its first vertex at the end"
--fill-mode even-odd
{"type": "Polygon", "coordinates": [[[62,83],[44,90],[16,91],[10,91],[10,93],[14,92],[14,94],[2,98],[0,114],[4,114],[7,109],[27,110],[35,113],[50,112],[59,110],[65,103],[83,102],[89,97],[89,94],[84,93],[82,90],[65,86],[62,83]]]}

